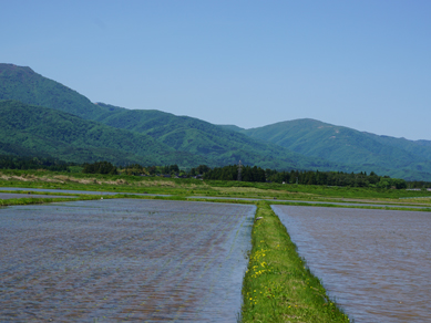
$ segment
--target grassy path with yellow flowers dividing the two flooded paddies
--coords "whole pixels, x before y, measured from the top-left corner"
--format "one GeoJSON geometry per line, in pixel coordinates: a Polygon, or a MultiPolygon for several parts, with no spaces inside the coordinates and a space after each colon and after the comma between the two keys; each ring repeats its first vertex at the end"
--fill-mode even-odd
{"type": "Polygon", "coordinates": [[[349,322],[298,256],[267,201],[257,202],[252,244],[243,322],[349,322]]]}

